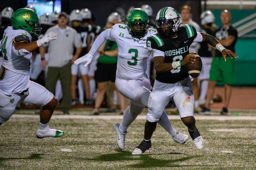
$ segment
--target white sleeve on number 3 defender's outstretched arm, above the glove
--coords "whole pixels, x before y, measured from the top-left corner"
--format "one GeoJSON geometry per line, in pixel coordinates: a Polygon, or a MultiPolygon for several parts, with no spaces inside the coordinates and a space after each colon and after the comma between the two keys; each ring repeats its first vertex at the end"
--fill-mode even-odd
{"type": "Polygon", "coordinates": [[[89,53],[91,55],[94,55],[95,52],[98,50],[98,48],[106,41],[106,40],[111,40],[115,41],[112,36],[110,35],[110,30],[111,29],[106,29],[104,32],[100,33],[100,35],[96,38],[96,40],[93,43],[93,46],[91,46],[91,50],[89,53]]]}

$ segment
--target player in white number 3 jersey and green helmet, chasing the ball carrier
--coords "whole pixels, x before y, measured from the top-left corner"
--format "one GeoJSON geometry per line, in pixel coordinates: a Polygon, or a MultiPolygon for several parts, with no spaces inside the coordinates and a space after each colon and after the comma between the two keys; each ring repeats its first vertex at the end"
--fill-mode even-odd
{"type": "MultiPolygon", "coordinates": [[[[156,33],[155,29],[149,29],[149,17],[141,8],[134,8],[127,15],[127,25],[115,24],[111,29],[106,29],[95,40],[87,55],[79,58],[74,63],[85,63],[88,66],[105,40],[116,41],[118,46],[118,59],[116,70],[117,90],[130,100],[129,106],[124,111],[122,123],[116,123],[114,128],[117,133],[117,145],[125,148],[125,135],[128,126],[148,106],[150,95],[150,80],[146,74],[146,67],[150,51],[145,49],[146,39],[156,33]]],[[[183,135],[173,129],[166,113],[163,111],[158,123],[178,143],[185,143],[188,135],[183,135]]]]}

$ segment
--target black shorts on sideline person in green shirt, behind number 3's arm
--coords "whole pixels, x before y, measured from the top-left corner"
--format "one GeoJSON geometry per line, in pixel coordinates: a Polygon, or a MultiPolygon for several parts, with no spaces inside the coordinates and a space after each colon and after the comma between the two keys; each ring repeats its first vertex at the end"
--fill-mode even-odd
{"type": "Polygon", "coordinates": [[[117,67],[117,64],[97,63],[97,70],[95,72],[96,81],[103,82],[103,81],[111,80],[112,82],[115,82],[116,67],[117,67]]]}

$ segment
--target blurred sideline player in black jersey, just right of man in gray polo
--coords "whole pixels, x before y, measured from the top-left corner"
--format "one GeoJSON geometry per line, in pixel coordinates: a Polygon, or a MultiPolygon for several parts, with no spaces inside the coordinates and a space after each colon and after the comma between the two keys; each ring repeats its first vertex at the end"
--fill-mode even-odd
{"type": "MultiPolygon", "coordinates": [[[[80,14],[79,10],[73,10],[70,13],[69,21],[71,22],[71,27],[74,28],[79,37],[82,40],[82,52],[80,53],[80,56],[85,55],[88,52],[88,46],[90,46],[90,40],[88,38],[88,35],[91,32],[91,27],[89,26],[83,26],[82,25],[82,15],[80,14]]],[[[76,104],[84,104],[84,94],[83,89],[85,90],[85,98],[86,101],[89,100],[89,83],[88,83],[88,68],[84,67],[83,64],[72,64],[71,66],[71,74],[72,74],[72,83],[71,83],[71,97],[72,102],[71,105],[74,106],[76,104]],[[83,82],[79,82],[78,80],[78,86],[80,84],[84,85],[84,88],[78,88],[79,92],[79,102],[76,100],[76,83],[77,83],[77,77],[80,75],[80,78],[83,82]]]]}

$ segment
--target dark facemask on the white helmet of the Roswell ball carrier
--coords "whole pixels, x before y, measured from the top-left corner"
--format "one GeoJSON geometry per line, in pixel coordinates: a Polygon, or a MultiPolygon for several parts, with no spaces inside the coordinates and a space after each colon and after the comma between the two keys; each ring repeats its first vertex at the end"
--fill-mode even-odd
{"type": "Polygon", "coordinates": [[[156,29],[162,38],[173,36],[178,30],[175,27],[175,23],[178,18],[174,19],[158,19],[155,21],[156,29]]]}

